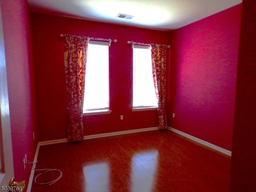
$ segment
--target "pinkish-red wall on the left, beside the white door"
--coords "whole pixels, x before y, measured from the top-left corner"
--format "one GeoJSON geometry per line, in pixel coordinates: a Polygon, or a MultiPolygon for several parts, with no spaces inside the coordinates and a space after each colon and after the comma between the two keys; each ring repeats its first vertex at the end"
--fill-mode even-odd
{"type": "Polygon", "coordinates": [[[32,72],[30,24],[26,0],[1,0],[10,105],[10,123],[15,181],[26,180],[31,168],[23,168],[27,154],[34,160],[37,141],[35,125],[34,80],[32,72]]]}

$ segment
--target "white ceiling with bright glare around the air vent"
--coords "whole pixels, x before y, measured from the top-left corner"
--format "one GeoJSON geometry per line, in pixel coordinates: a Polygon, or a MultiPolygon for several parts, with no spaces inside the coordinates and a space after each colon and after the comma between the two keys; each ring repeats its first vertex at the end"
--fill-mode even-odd
{"type": "Polygon", "coordinates": [[[32,12],[107,23],[174,30],[242,0],[28,0],[32,12]],[[131,20],[116,18],[121,14],[131,20]]]}

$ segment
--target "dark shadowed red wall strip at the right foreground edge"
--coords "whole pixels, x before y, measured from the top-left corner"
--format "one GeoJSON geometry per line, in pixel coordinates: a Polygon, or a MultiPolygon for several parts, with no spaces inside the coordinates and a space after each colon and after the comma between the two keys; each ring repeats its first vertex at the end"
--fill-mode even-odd
{"type": "Polygon", "coordinates": [[[256,191],[255,8],[255,0],[243,1],[231,158],[231,192],[256,191]]]}

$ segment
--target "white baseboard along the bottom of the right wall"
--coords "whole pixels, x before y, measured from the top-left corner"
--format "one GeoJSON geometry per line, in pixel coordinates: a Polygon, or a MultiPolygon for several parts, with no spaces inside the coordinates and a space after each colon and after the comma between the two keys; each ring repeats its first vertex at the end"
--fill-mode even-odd
{"type": "Polygon", "coordinates": [[[177,129],[174,129],[174,128],[172,128],[172,127],[168,127],[168,129],[171,130],[171,131],[173,131],[173,132],[175,132],[175,133],[177,133],[177,134],[179,134],[179,135],[182,135],[182,136],[184,136],[184,137],[186,137],[186,138],[189,138],[189,139],[191,139],[191,140],[193,140],[193,141],[195,141],[195,142],[198,142],[198,143],[200,143],[200,144],[202,144],[202,145],[208,146],[208,147],[210,147],[210,148],[212,148],[212,149],[214,149],[214,150],[217,150],[217,151],[219,151],[219,152],[222,152],[222,153],[224,153],[224,154],[226,154],[226,155],[228,155],[228,156],[231,156],[231,155],[232,155],[232,152],[231,152],[231,151],[226,150],[226,149],[224,149],[224,148],[221,148],[221,147],[219,147],[219,146],[216,146],[216,145],[214,145],[214,144],[211,144],[211,143],[209,143],[209,142],[206,142],[206,141],[204,141],[204,140],[202,140],[202,139],[196,138],[196,137],[194,137],[194,136],[191,136],[191,135],[189,135],[189,134],[186,134],[186,133],[184,133],[184,132],[182,132],[182,131],[179,131],[179,130],[177,130],[177,129]]]}

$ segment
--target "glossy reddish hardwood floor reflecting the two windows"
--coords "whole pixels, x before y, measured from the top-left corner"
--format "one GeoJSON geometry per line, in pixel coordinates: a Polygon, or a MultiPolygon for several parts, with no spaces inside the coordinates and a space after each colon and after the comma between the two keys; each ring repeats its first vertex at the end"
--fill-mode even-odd
{"type": "Polygon", "coordinates": [[[169,130],[40,146],[42,168],[63,176],[32,192],[228,192],[230,181],[230,157],[169,130]]]}

